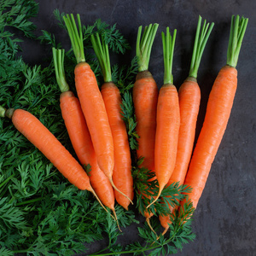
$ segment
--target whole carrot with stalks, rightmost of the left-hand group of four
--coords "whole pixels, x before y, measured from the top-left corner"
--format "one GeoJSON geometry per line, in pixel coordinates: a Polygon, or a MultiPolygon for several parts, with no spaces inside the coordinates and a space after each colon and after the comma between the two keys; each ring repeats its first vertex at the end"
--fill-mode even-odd
{"type": "MultiPolygon", "coordinates": [[[[98,33],[91,36],[93,49],[103,73],[102,98],[108,113],[108,121],[113,136],[113,183],[125,195],[133,199],[133,179],[131,176],[131,152],[125,122],[121,113],[121,95],[118,87],[112,82],[108,44],[98,33]]],[[[130,201],[118,191],[114,191],[119,205],[128,210],[130,201]]]]}

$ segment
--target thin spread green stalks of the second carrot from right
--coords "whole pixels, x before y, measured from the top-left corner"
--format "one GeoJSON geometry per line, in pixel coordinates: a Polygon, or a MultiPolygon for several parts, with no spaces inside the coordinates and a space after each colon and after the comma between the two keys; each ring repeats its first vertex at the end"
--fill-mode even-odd
{"type": "Polygon", "coordinates": [[[199,16],[195,33],[195,43],[192,54],[192,60],[190,64],[189,77],[197,79],[197,73],[201,62],[201,56],[206,47],[207,40],[212,32],[213,26],[213,22],[211,23],[211,26],[209,26],[207,20],[204,20],[203,27],[201,30],[201,16],[199,16]]]}

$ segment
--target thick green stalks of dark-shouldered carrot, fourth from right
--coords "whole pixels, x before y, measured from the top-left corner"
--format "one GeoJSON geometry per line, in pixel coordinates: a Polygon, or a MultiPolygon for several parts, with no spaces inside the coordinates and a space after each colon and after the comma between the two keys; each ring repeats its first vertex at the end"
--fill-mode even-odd
{"type": "Polygon", "coordinates": [[[159,24],[154,23],[149,26],[145,26],[142,37],[143,26],[139,26],[137,32],[137,45],[136,45],[136,55],[138,62],[138,71],[142,72],[148,70],[148,63],[150,59],[150,53],[152,49],[152,44],[154,43],[154,37],[159,24]]]}

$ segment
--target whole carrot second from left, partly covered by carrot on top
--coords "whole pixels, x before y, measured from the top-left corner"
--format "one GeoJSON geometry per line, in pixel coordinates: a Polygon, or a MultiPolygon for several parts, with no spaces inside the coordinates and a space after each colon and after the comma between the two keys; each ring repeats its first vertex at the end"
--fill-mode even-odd
{"type": "Polygon", "coordinates": [[[114,195],[113,187],[108,177],[102,172],[97,164],[95,150],[93,148],[90,132],[84,119],[79,99],[69,90],[64,72],[64,49],[52,49],[55,63],[56,81],[61,90],[61,114],[67,127],[68,136],[70,137],[73,148],[79,158],[82,166],[90,165],[90,184],[95,189],[96,195],[100,198],[103,205],[113,211],[114,195]]]}

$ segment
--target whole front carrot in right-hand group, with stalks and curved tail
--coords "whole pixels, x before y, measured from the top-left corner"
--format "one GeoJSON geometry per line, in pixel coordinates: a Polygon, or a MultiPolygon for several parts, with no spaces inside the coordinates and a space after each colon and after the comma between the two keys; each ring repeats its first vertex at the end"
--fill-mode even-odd
{"type": "Polygon", "coordinates": [[[177,89],[173,85],[172,59],[176,30],[173,37],[166,28],[166,35],[162,32],[165,77],[164,85],[160,88],[157,103],[156,133],[154,145],[155,174],[159,183],[159,192],[148,207],[158,200],[166,183],[168,183],[175,167],[177,154],[177,139],[180,125],[177,89]]]}

